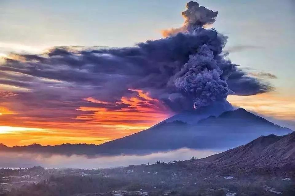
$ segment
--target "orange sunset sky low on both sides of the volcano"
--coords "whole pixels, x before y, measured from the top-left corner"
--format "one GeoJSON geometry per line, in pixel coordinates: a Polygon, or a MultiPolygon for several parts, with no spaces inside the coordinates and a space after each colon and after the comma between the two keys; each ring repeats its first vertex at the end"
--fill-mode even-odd
{"type": "MultiPolygon", "coordinates": [[[[9,103],[0,106],[0,141],[7,146],[55,145],[61,143],[94,143],[100,144],[112,139],[130,135],[144,130],[173,115],[158,100],[151,99],[148,93],[130,89],[137,95],[122,97],[115,104],[128,104],[127,108],[107,109],[103,107],[80,106],[76,110],[82,112],[73,119],[50,121],[22,116],[13,111],[9,103]],[[85,112],[85,114],[83,113],[85,112]]],[[[5,93],[5,96],[15,96],[15,93],[5,93]]],[[[2,96],[3,92],[2,92],[2,96]]],[[[98,104],[114,104],[92,97],[83,100],[98,104]]],[[[265,116],[273,116],[282,120],[294,120],[295,101],[275,93],[265,93],[254,96],[228,96],[235,106],[255,111],[265,116]]],[[[75,111],[73,111],[75,112],[75,111]]]]}

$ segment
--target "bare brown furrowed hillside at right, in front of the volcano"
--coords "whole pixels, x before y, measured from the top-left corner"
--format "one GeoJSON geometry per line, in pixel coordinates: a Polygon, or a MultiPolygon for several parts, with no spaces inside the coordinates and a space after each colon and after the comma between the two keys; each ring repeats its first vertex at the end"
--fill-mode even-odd
{"type": "Polygon", "coordinates": [[[284,136],[261,136],[246,145],[199,159],[193,165],[231,171],[265,167],[295,169],[295,132],[284,136]]]}

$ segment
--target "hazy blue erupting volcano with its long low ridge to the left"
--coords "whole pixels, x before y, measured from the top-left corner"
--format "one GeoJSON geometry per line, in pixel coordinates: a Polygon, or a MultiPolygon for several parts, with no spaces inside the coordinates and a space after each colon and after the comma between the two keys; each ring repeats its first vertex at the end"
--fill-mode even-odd
{"type": "Polygon", "coordinates": [[[239,108],[200,119],[199,114],[178,114],[138,133],[94,144],[61,144],[41,146],[32,144],[21,147],[0,145],[2,151],[29,151],[61,153],[65,155],[115,155],[148,154],[157,151],[175,150],[182,147],[193,149],[227,150],[250,142],[261,135],[285,135],[292,130],[256,116],[239,108]],[[195,120],[193,120],[195,117],[195,120]],[[186,122],[186,119],[187,122],[186,122]]]}

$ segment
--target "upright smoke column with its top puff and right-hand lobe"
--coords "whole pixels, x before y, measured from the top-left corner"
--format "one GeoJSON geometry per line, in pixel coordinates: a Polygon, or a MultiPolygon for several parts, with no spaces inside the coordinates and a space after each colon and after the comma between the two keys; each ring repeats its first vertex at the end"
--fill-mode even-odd
{"type": "Polygon", "coordinates": [[[199,6],[198,2],[188,2],[182,12],[185,22],[178,29],[163,31],[164,36],[177,37],[180,33],[198,36],[200,45],[174,76],[174,84],[182,92],[194,97],[194,108],[208,106],[215,101],[226,102],[228,94],[251,95],[268,91],[268,85],[260,84],[256,78],[246,76],[222,56],[227,37],[215,29],[204,29],[216,21],[218,12],[199,6]],[[215,43],[214,43],[215,42],[215,43]],[[230,80],[229,80],[230,79],[230,80]],[[233,90],[228,86],[231,84],[233,90]],[[240,84],[240,86],[237,86],[240,84]]]}

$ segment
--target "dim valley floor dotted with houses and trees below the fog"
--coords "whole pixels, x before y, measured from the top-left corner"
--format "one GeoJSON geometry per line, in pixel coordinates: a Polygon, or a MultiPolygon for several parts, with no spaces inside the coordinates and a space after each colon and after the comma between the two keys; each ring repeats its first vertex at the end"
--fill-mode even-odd
{"type": "Polygon", "coordinates": [[[40,190],[74,196],[292,195],[288,192],[295,187],[293,176],[191,170],[189,164],[156,162],[92,170],[6,168],[0,170],[0,195],[38,195],[40,190]]]}

